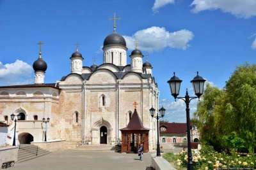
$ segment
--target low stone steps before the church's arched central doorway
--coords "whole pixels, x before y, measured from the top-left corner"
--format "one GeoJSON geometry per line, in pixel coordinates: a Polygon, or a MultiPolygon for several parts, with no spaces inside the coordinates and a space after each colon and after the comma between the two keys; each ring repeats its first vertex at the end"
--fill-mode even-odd
{"type": "Polygon", "coordinates": [[[86,144],[79,144],[73,151],[103,151],[103,152],[114,152],[115,146],[113,145],[86,145],[86,144]]]}

